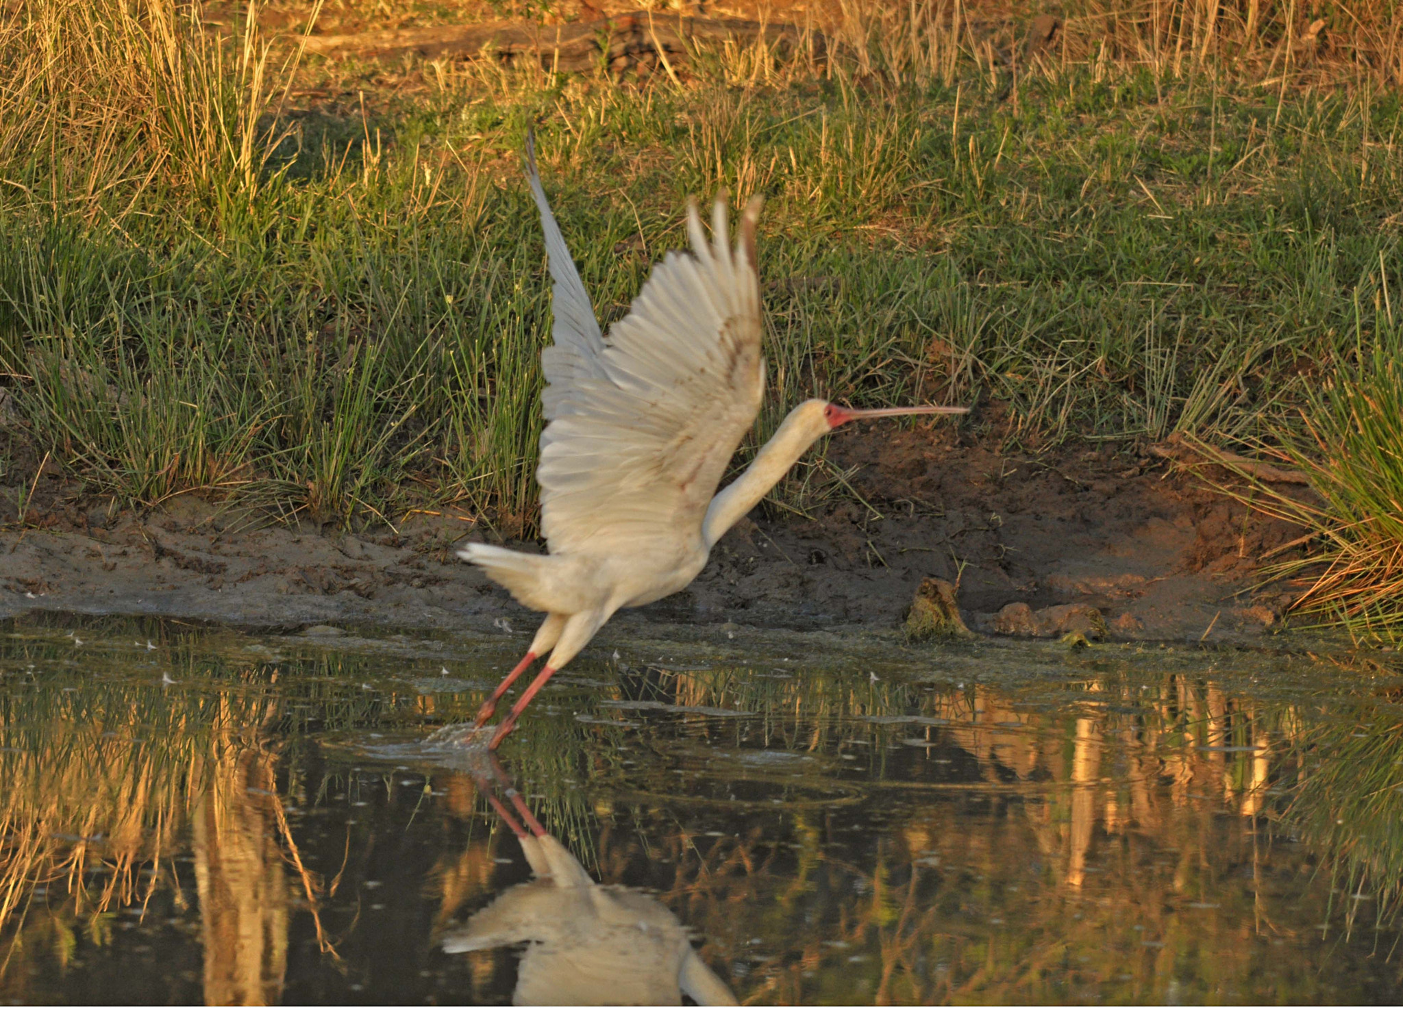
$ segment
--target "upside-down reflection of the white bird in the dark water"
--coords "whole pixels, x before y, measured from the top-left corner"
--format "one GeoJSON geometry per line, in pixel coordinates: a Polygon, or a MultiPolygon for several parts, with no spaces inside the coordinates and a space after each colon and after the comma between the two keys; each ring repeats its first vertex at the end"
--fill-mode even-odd
{"type": "Polygon", "coordinates": [[[481,769],[474,774],[478,788],[516,835],[535,880],[508,888],[446,934],[443,950],[466,954],[528,944],[512,996],[518,1006],[678,1006],[683,993],[700,1006],[735,1006],[678,917],[641,891],[596,884],[532,815],[495,758],[490,760],[491,779],[481,769]]]}

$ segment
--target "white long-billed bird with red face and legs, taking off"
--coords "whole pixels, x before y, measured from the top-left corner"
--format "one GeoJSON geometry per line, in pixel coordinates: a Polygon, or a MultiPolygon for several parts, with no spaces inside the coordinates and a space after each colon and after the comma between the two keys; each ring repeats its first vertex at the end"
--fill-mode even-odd
{"type": "Polygon", "coordinates": [[[606,341],[542,189],[529,135],[526,178],[554,282],[554,345],[542,352],[547,424],[536,469],[550,553],[474,543],[459,557],[547,617],[525,658],[483,703],[477,725],[491,718],[537,656],[553,651],[497,728],[491,748],[616,610],[652,603],[692,582],[721,534],[821,436],[859,418],[965,412],[934,405],[850,410],[805,400],[745,473],[716,494],[765,394],[755,272],[760,199],[746,206],[734,248],[724,195],[713,206],[710,243],[689,203],[692,251],[669,252],[654,267],[606,341]]]}

